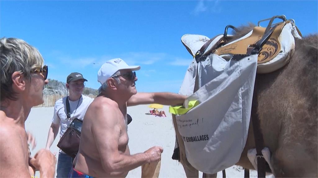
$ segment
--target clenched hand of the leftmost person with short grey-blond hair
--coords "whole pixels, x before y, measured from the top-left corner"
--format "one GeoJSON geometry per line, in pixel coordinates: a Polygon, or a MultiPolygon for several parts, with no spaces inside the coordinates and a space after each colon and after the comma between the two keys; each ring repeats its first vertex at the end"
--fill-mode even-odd
{"type": "Polygon", "coordinates": [[[29,164],[40,171],[40,177],[54,177],[56,158],[49,150],[40,149],[29,164]]]}

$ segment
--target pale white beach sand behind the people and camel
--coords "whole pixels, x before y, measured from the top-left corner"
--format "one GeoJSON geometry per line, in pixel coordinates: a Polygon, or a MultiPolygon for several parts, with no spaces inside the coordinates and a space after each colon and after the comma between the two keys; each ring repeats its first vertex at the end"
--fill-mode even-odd
{"type": "MultiPolygon", "coordinates": [[[[148,105],[128,107],[128,114],[133,121],[128,125],[129,149],[131,154],[141,153],[152,146],[162,146],[163,153],[161,159],[161,169],[159,177],[186,177],[182,165],[171,159],[175,146],[175,131],[172,124],[172,117],[169,114],[169,107],[162,109],[167,117],[156,117],[148,115],[150,108],[148,105]]],[[[43,107],[33,108],[29,118],[25,122],[27,131],[33,133],[37,140],[37,146],[31,151],[32,156],[42,148],[45,148],[49,127],[52,122],[54,108],[43,107]]],[[[52,144],[52,153],[56,152],[58,158],[59,134],[52,144]]],[[[39,173],[36,173],[39,176],[39,173]]],[[[127,177],[140,177],[141,167],[135,168],[128,173],[127,177]]],[[[199,177],[202,173],[199,172],[199,177]]],[[[222,177],[222,172],[218,173],[222,177]]],[[[226,177],[244,177],[244,170],[240,166],[232,166],[226,169],[226,177]]],[[[256,171],[250,172],[250,177],[257,177],[256,171]]],[[[273,177],[272,175],[266,177],[273,177]]]]}

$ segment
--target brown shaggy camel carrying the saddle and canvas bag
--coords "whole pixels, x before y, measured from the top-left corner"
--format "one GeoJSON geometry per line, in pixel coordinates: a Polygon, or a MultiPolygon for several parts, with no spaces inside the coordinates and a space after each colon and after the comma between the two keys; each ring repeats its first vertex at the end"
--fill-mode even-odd
{"type": "MultiPolygon", "coordinates": [[[[234,36],[238,39],[253,27],[252,24],[242,26],[233,31],[234,36]]],[[[266,172],[275,177],[318,177],[317,44],[317,34],[295,39],[295,52],[286,66],[256,75],[256,110],[264,147],[271,152],[270,162],[274,169],[271,172],[267,168],[266,172]]],[[[172,118],[180,149],[179,160],[187,177],[198,177],[198,170],[187,161],[175,115],[172,118]]],[[[247,151],[252,148],[255,142],[250,123],[245,148],[236,165],[254,169],[247,158],[247,151]]],[[[216,177],[216,174],[204,174],[204,177],[216,177]]]]}

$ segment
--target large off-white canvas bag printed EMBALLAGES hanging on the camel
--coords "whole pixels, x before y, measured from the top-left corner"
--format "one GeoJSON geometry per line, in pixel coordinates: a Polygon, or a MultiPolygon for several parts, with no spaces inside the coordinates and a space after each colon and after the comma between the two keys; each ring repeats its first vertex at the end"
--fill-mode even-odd
{"type": "Polygon", "coordinates": [[[176,115],[176,121],[194,168],[214,174],[239,161],[250,123],[257,56],[226,61],[211,54],[190,64],[179,94],[189,96],[197,85],[184,106],[193,100],[200,104],[176,115]]]}

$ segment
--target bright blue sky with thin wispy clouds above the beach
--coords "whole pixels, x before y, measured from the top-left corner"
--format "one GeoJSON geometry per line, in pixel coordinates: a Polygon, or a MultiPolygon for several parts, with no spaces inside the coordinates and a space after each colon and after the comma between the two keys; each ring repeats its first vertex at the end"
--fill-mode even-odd
{"type": "MultiPolygon", "coordinates": [[[[317,33],[317,1],[2,1],[0,36],[39,49],[49,78],[80,72],[97,89],[107,60],[140,65],[139,92],[178,92],[192,60],[184,34],[210,38],[226,25],[285,15],[306,36],[317,33]]],[[[264,24],[265,26],[266,24],[264,24]]]]}

